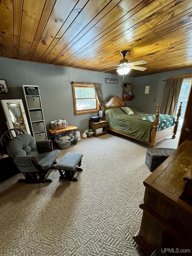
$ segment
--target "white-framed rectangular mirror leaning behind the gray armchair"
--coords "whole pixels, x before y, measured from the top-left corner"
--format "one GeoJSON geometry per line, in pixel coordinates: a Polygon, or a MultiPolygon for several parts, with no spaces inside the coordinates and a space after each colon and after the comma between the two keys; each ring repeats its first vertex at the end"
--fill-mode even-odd
{"type": "Polygon", "coordinates": [[[19,128],[31,134],[22,100],[1,100],[8,129],[19,128]]]}

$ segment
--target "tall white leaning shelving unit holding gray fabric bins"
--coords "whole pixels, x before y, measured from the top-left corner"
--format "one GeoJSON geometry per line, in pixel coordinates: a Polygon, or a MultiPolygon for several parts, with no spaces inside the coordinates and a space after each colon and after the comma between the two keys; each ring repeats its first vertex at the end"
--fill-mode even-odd
{"type": "Polygon", "coordinates": [[[35,140],[47,140],[44,114],[38,85],[23,85],[23,93],[35,140]]]}

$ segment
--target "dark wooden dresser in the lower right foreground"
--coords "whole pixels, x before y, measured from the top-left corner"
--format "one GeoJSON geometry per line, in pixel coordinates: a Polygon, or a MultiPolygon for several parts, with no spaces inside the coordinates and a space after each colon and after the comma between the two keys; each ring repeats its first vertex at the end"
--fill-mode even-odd
{"type": "Polygon", "coordinates": [[[185,140],[143,182],[143,217],[133,239],[146,255],[156,248],[168,255],[192,255],[192,201],[186,203],[179,198],[186,175],[192,175],[190,140],[185,140]]]}

